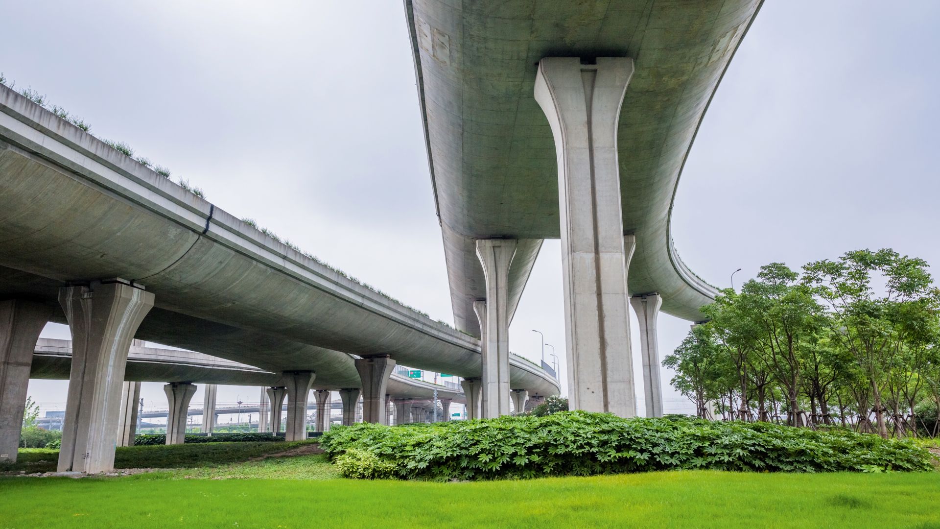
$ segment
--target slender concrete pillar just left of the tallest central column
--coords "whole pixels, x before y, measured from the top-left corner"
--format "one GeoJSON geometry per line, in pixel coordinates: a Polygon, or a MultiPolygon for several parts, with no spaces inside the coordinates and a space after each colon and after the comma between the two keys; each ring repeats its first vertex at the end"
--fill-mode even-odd
{"type": "Polygon", "coordinates": [[[486,280],[486,301],[474,302],[483,352],[483,417],[509,415],[509,265],[516,241],[477,241],[486,280]]]}

